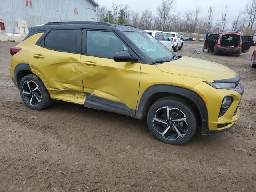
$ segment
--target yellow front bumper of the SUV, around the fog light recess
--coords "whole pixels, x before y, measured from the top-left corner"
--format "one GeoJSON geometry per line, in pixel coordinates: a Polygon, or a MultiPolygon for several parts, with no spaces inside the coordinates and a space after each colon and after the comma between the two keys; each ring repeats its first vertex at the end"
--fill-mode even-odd
{"type": "Polygon", "coordinates": [[[203,135],[209,135],[232,128],[240,117],[240,109],[238,108],[238,105],[244,92],[242,84],[236,89],[230,90],[215,89],[205,82],[201,82],[194,88],[196,88],[197,91],[200,90],[200,93],[202,93],[207,100],[206,107],[208,111],[208,121],[202,121],[201,133],[203,135]],[[232,96],[233,102],[226,113],[219,117],[220,108],[225,96],[232,96]]]}

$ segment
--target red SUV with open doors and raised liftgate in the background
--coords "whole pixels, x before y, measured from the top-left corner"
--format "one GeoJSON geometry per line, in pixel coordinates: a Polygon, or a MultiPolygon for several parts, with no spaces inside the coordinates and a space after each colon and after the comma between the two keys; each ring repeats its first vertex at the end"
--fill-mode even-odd
{"type": "Polygon", "coordinates": [[[207,34],[204,48],[214,55],[222,53],[235,54],[240,56],[241,52],[248,52],[253,45],[253,40],[250,36],[243,36],[241,32],[222,32],[222,34],[207,34]]]}

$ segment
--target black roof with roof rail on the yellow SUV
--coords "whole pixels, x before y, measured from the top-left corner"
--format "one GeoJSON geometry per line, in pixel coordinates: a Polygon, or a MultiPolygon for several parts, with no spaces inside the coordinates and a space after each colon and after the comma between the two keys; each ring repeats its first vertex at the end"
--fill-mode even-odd
{"type": "Polygon", "coordinates": [[[49,22],[44,25],[30,27],[34,30],[47,31],[52,28],[86,28],[86,29],[100,29],[100,30],[118,30],[118,31],[132,31],[144,32],[130,25],[116,25],[107,22],[90,22],[90,21],[73,21],[73,22],[49,22]]]}

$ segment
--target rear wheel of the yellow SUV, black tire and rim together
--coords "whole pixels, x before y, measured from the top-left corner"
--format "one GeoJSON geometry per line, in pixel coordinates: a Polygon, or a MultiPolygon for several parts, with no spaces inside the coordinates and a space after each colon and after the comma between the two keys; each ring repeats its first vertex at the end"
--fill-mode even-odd
{"type": "Polygon", "coordinates": [[[23,102],[33,110],[42,110],[53,102],[43,82],[34,74],[22,78],[19,88],[23,102]]]}

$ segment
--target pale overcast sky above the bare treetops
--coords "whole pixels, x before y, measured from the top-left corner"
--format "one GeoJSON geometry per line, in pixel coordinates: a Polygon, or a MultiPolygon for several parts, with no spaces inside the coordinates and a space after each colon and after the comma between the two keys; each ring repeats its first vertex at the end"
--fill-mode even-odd
{"type": "MultiPolygon", "coordinates": [[[[106,6],[111,9],[114,0],[99,0],[100,6],[106,6]]],[[[156,13],[156,7],[160,4],[160,0],[115,0],[120,4],[128,4],[132,10],[144,10],[146,8],[156,13]]],[[[200,15],[207,15],[207,7],[214,5],[214,18],[220,18],[220,14],[224,10],[225,4],[228,4],[228,18],[238,16],[239,10],[243,10],[246,0],[176,0],[176,12],[184,13],[187,10],[194,10],[196,6],[200,7],[200,15]]]]}

